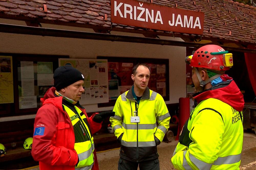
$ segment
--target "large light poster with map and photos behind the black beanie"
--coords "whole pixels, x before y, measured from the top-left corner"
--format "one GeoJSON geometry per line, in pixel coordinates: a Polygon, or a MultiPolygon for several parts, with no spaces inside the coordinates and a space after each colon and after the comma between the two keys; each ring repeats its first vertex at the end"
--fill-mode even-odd
{"type": "Polygon", "coordinates": [[[109,102],[108,62],[106,59],[59,58],[59,66],[72,66],[84,76],[80,104],[109,102]]]}

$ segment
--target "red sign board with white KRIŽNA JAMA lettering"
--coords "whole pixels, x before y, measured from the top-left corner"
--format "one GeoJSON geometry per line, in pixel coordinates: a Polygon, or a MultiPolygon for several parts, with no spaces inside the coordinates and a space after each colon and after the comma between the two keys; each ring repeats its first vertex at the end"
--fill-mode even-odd
{"type": "Polygon", "coordinates": [[[111,0],[111,22],[156,30],[203,34],[204,13],[136,0],[111,0]]]}

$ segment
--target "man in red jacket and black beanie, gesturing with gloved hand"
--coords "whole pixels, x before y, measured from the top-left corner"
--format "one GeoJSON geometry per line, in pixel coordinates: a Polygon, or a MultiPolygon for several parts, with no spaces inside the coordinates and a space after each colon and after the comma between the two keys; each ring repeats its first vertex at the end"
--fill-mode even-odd
{"type": "Polygon", "coordinates": [[[41,98],[34,124],[32,156],[41,170],[99,169],[92,135],[114,112],[88,118],[78,101],[83,83],[84,76],[71,66],[54,71],[55,87],[41,98]]]}

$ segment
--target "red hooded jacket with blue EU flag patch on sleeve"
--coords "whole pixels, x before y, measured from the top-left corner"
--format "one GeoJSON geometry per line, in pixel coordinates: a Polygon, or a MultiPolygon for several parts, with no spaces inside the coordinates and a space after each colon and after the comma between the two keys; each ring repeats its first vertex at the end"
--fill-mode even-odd
{"type": "MultiPolygon", "coordinates": [[[[39,161],[41,170],[74,170],[78,155],[74,150],[73,126],[63,111],[62,97],[55,97],[54,93],[55,88],[52,87],[41,98],[43,105],[35,118],[32,156],[39,161]]],[[[92,116],[88,118],[84,108],[80,109],[87,117],[92,134],[100,130],[101,123],[94,122],[92,116]]],[[[99,169],[95,150],[92,169],[99,169]]]]}

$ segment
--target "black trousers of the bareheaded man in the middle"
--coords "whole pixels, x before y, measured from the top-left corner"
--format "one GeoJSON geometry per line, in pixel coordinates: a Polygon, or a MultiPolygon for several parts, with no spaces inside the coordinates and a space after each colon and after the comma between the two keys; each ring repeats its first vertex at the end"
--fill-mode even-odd
{"type": "Polygon", "coordinates": [[[120,157],[118,161],[118,170],[137,170],[138,166],[140,170],[160,170],[158,158],[142,162],[132,162],[120,157]]]}

